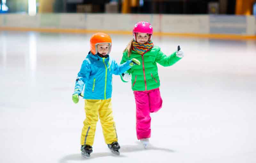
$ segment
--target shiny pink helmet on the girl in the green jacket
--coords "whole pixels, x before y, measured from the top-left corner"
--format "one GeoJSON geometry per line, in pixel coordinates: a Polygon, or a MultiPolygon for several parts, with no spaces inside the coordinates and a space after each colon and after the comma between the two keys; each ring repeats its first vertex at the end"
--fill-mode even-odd
{"type": "Polygon", "coordinates": [[[150,23],[146,21],[139,21],[134,25],[132,33],[135,41],[136,41],[136,33],[148,33],[149,40],[151,40],[151,35],[153,34],[153,27],[151,26],[150,23]]]}

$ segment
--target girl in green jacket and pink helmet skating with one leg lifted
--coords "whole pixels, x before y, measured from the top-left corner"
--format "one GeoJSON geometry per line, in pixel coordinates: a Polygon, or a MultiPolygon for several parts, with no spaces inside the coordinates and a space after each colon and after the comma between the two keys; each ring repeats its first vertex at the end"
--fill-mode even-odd
{"type": "Polygon", "coordinates": [[[162,107],[162,98],[159,91],[160,81],[157,65],[171,66],[179,61],[183,52],[178,50],[166,56],[158,46],[151,41],[153,28],[148,22],[138,22],[133,28],[133,39],[125,48],[121,64],[136,58],[140,66],[134,66],[121,75],[124,82],[132,78],[132,90],[136,102],[136,132],[137,138],[146,148],[151,135],[150,113],[157,112],[162,107]],[[131,76],[132,75],[132,76],[131,76]]]}

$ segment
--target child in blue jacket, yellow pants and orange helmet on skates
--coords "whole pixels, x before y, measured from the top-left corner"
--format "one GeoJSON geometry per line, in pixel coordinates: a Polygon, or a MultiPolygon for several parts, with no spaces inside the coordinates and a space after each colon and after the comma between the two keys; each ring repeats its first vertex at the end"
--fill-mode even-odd
{"type": "Polygon", "coordinates": [[[112,115],[112,74],[121,75],[140,61],[131,60],[119,65],[108,54],[111,50],[111,38],[106,33],[95,33],[90,40],[90,52],[82,63],[76,78],[72,100],[77,103],[79,96],[85,99],[84,127],[81,134],[81,154],[90,157],[96,130],[100,122],[106,144],[112,153],[119,155],[120,146],[117,142],[116,125],[112,115]],[[83,87],[85,85],[84,93],[83,87]]]}

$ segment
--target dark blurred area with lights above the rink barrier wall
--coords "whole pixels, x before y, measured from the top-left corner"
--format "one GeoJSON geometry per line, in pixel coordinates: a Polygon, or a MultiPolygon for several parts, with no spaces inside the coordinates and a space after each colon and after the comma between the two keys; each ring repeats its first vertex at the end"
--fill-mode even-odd
{"type": "Polygon", "coordinates": [[[154,13],[255,15],[255,0],[0,0],[2,13],[154,13]]]}

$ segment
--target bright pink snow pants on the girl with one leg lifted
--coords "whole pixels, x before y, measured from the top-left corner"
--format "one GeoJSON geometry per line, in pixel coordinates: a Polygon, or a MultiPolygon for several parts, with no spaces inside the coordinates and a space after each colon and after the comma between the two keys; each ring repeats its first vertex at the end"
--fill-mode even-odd
{"type": "Polygon", "coordinates": [[[162,107],[163,100],[159,88],[149,91],[134,91],[136,102],[136,132],[138,140],[151,136],[150,113],[162,107]]]}

